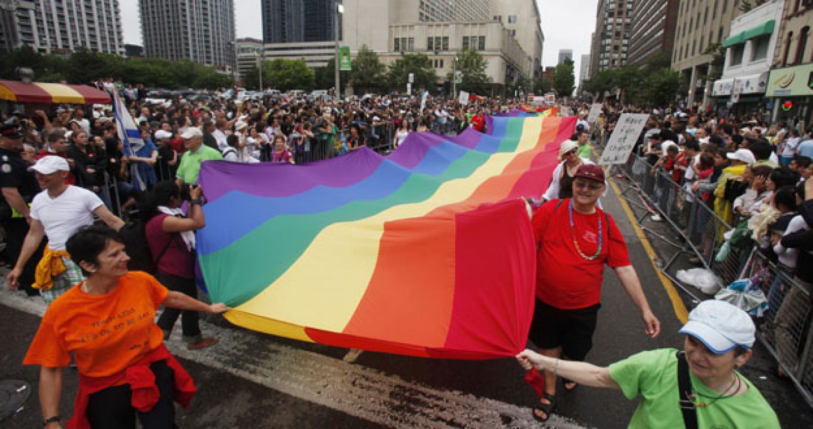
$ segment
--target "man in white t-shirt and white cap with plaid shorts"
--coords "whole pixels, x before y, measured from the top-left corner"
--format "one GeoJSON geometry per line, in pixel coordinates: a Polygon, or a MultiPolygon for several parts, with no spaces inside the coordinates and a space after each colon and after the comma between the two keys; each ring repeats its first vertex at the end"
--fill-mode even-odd
{"type": "Polygon", "coordinates": [[[65,251],[67,239],[79,228],[92,225],[93,215],[116,231],[124,222],[107,210],[107,206],[95,193],[65,184],[65,176],[70,170],[65,158],[48,155],[37,161],[31,170],[43,190],[31,202],[28,235],[25,236],[20,257],[7,280],[9,288],[19,286],[25,263],[39,247],[42,237],[47,236],[48,245],[37,265],[33,287],[40,289],[46,304],[50,304],[67,289],[85,279],[79,266],[73,263],[65,251]],[[59,261],[54,261],[56,258],[59,261]]]}

